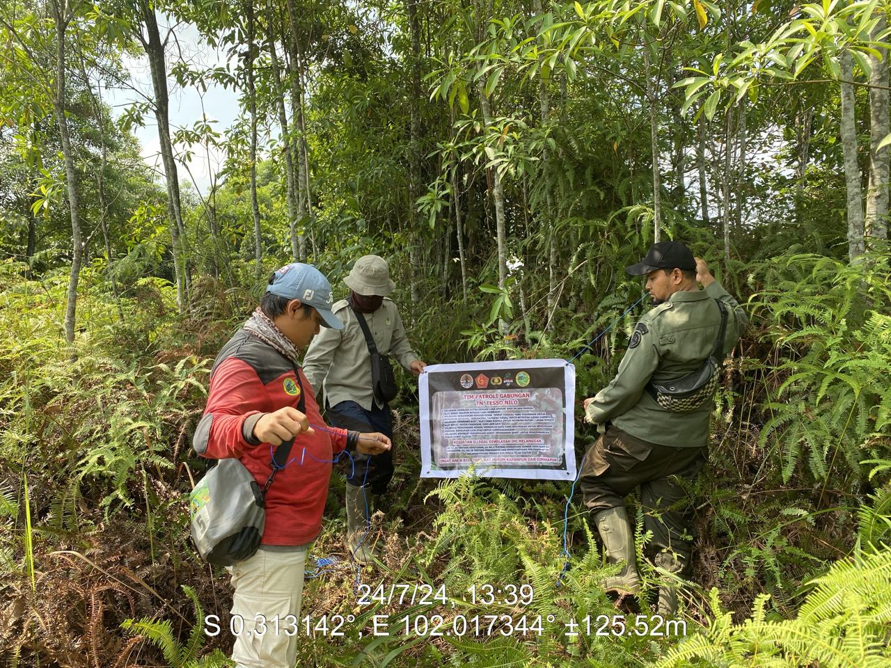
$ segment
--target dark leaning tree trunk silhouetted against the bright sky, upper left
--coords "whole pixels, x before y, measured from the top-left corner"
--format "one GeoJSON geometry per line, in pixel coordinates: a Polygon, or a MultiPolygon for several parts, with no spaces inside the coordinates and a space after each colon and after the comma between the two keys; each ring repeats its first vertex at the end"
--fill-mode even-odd
{"type": "Polygon", "coordinates": [[[169,95],[167,84],[167,64],[164,55],[164,44],[161,42],[158,19],[154,5],[148,2],[140,4],[147,37],[143,39],[143,48],[149,59],[151,70],[151,86],[155,94],[155,118],[158,122],[158,140],[161,151],[161,162],[164,165],[164,177],[168,191],[168,219],[170,221],[170,238],[172,243],[174,272],[176,273],[176,305],[179,310],[190,309],[190,278],[186,252],[184,248],[185,226],[180,208],[179,176],[176,174],[173,143],[170,141],[169,95]]]}

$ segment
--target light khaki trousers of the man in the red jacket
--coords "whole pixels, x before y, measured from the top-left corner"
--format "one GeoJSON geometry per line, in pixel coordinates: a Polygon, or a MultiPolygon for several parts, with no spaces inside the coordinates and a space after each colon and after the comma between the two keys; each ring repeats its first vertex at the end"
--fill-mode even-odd
{"type": "Polygon", "coordinates": [[[232,650],[238,668],[294,668],[308,547],[257,550],[232,566],[233,629],[235,615],[244,623],[232,650]]]}

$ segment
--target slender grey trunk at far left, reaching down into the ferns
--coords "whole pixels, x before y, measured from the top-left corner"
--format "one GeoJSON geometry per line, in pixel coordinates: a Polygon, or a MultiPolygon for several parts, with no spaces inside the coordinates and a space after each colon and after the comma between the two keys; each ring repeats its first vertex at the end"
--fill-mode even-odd
{"type": "Polygon", "coordinates": [[[56,33],[55,93],[53,94],[53,110],[56,123],[59,125],[61,152],[65,160],[65,185],[68,189],[68,205],[71,215],[71,271],[68,281],[68,298],[65,305],[65,340],[69,345],[74,343],[74,327],[78,309],[78,282],[80,281],[80,264],[83,257],[83,240],[80,233],[80,200],[78,197],[78,177],[74,167],[74,150],[68,130],[68,118],[65,116],[65,32],[68,28],[69,16],[63,15],[63,9],[57,0],[50,3],[53,11],[53,22],[56,33]]]}

